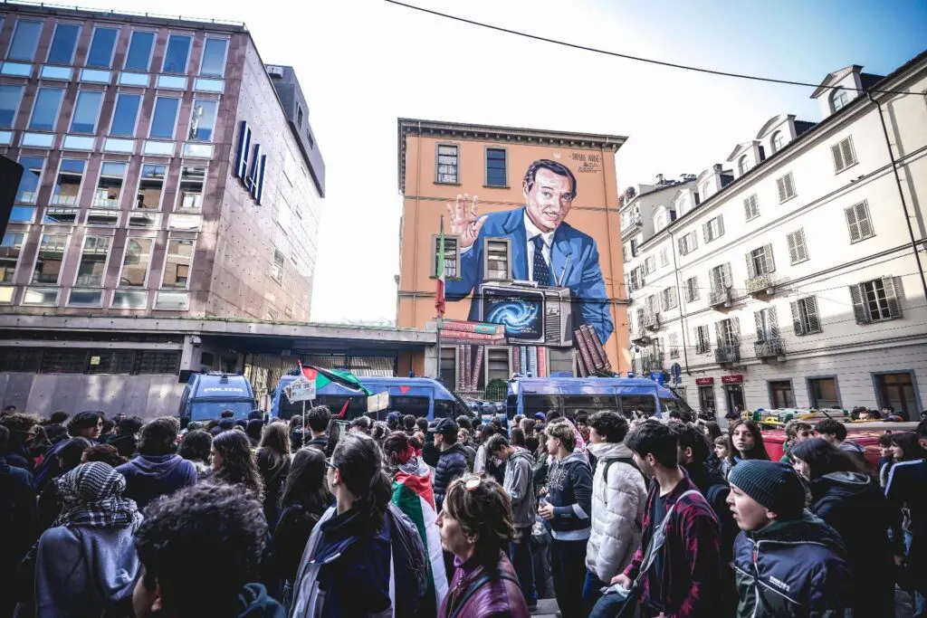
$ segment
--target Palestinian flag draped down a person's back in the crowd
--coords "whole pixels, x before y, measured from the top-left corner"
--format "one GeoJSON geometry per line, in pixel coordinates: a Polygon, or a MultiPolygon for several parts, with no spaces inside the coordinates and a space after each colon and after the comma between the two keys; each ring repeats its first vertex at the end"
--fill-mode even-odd
{"type": "Polygon", "coordinates": [[[409,516],[418,528],[418,534],[422,536],[425,553],[428,554],[428,589],[421,614],[437,615],[441,602],[448,594],[448,578],[444,573],[431,471],[425,461],[416,457],[400,465],[393,477],[393,504],[409,516]]]}

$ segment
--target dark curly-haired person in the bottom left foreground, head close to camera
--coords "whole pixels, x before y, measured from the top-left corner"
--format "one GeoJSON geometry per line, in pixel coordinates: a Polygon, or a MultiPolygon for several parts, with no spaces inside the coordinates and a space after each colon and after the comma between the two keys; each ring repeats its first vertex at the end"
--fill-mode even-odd
{"type": "Polygon", "coordinates": [[[260,501],[242,486],[204,483],[157,500],[135,533],[136,618],[284,618],[255,583],[266,543],[260,501]]]}

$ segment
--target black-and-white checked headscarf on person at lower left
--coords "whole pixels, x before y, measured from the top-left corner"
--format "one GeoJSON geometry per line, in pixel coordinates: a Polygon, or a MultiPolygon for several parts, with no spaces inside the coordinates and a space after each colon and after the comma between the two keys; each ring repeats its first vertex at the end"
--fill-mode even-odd
{"type": "Polygon", "coordinates": [[[135,501],[122,498],[125,477],[108,463],[83,463],[55,483],[64,505],[55,525],[134,529],[142,523],[135,501]]]}

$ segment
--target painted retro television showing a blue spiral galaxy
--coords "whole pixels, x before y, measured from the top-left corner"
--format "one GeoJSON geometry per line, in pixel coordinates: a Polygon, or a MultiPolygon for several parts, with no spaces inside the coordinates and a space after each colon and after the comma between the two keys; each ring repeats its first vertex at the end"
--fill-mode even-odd
{"type": "Polygon", "coordinates": [[[567,287],[527,281],[479,286],[477,319],[502,324],[511,343],[573,346],[573,304],[567,287]]]}

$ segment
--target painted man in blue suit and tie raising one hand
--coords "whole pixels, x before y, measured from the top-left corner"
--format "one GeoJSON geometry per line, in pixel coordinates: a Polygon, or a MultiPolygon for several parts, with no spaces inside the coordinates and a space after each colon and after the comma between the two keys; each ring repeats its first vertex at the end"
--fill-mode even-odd
{"type": "MultiPolygon", "coordinates": [[[[582,318],[575,327],[589,324],[604,344],[615,327],[599,250],[588,234],[564,222],[577,196],[576,176],[562,163],[542,158],[528,167],[522,192],[525,206],[488,215],[477,214],[476,196],[471,202],[468,195],[458,195],[455,207],[447,205],[461,251],[460,279],[446,283],[448,300],[478,293],[486,239],[505,239],[512,247],[513,279],[568,287],[582,318]]],[[[471,320],[477,319],[477,302],[471,305],[471,320]]]]}

